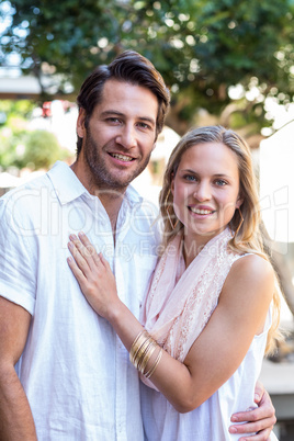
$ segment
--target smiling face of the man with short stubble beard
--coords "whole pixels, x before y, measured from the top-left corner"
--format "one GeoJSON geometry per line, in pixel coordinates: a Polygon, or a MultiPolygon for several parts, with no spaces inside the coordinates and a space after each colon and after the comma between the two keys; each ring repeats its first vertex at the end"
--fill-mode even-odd
{"type": "Polygon", "coordinates": [[[84,165],[86,186],[120,191],[145,169],[155,147],[157,113],[157,98],[148,89],[105,82],[88,127],[83,110],[78,117],[77,132],[83,138],[78,162],[84,165]]]}

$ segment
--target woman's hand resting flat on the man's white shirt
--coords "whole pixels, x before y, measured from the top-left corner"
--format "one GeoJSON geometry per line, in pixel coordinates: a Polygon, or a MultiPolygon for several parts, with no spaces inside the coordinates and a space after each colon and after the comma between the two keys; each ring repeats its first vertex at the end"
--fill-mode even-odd
{"type": "Polygon", "coordinates": [[[97,253],[83,233],[79,233],[79,238],[70,235],[69,239],[68,248],[72,255],[67,259],[69,268],[92,308],[109,319],[115,303],[121,303],[110,264],[102,253],[97,253]]]}

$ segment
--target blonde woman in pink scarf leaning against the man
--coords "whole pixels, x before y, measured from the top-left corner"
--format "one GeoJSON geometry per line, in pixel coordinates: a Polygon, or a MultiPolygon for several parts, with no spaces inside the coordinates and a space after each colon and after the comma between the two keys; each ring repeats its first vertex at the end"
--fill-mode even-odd
{"type": "Polygon", "coordinates": [[[247,144],[223,127],[189,132],[171,154],[160,210],[165,252],[146,298],[145,327],[120,301],[103,256],[84,252],[84,235],[83,247],[72,238],[69,265],[149,386],[143,388],[146,439],[237,439],[228,433],[230,415],[253,406],[279,321],[247,144]]]}

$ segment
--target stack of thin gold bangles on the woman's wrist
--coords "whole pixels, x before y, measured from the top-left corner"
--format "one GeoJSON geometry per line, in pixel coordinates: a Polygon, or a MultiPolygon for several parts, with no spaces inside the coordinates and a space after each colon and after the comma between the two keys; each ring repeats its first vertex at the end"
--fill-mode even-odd
{"type": "Polygon", "coordinates": [[[156,368],[158,366],[160,359],[162,357],[162,348],[160,348],[155,362],[151,364],[149,370],[145,372],[149,360],[151,359],[154,352],[159,346],[157,342],[149,336],[146,330],[140,331],[129,350],[129,360],[134,364],[134,366],[147,378],[154,374],[156,368]]]}

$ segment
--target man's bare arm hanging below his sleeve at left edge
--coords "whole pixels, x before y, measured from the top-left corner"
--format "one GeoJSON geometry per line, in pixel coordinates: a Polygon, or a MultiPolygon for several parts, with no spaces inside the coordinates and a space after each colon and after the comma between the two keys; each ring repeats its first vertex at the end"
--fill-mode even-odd
{"type": "Polygon", "coordinates": [[[15,373],[27,338],[31,315],[0,296],[0,440],[36,441],[32,411],[15,373]]]}

